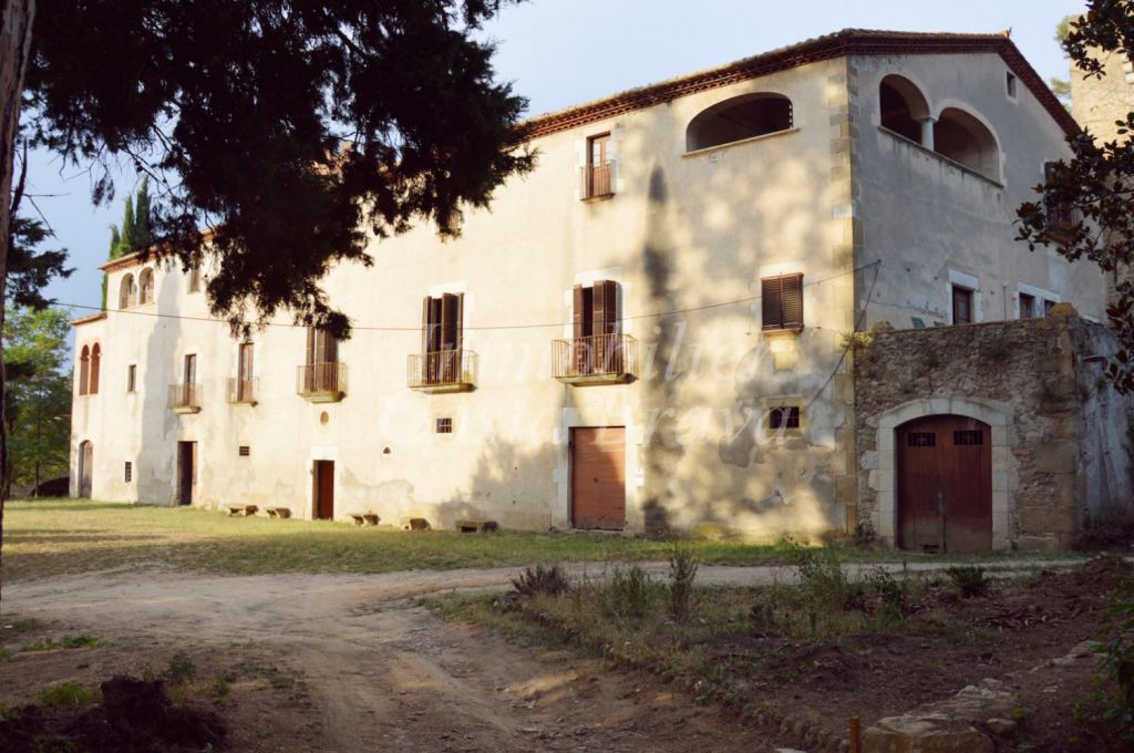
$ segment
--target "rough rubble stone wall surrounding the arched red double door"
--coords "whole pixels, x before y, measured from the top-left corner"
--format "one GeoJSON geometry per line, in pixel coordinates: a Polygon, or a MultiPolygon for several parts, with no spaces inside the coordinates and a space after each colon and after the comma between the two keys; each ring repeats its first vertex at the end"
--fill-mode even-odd
{"type": "Polygon", "coordinates": [[[1075,531],[1134,506],[1134,400],[1103,375],[1114,336],[1060,305],[1047,319],[889,330],[856,347],[863,519],[892,540],[894,429],[958,414],[992,426],[997,548],[1067,547],[1075,531]]]}

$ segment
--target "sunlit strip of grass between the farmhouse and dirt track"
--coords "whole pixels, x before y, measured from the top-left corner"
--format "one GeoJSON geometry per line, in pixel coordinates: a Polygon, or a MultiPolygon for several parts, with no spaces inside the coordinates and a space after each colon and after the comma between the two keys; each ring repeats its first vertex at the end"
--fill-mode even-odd
{"type": "MultiPolygon", "coordinates": [[[[697,541],[706,565],[786,562],[786,544],[697,541]]],[[[388,573],[550,561],[665,560],[669,544],[583,533],[459,534],[357,528],[325,521],[232,518],[215,510],[78,501],[10,501],[6,506],[3,577],[50,577],[112,568],[231,575],[388,573]]],[[[848,559],[941,559],[847,549],[848,559]]],[[[990,555],[996,559],[1002,555],[990,555]]]]}

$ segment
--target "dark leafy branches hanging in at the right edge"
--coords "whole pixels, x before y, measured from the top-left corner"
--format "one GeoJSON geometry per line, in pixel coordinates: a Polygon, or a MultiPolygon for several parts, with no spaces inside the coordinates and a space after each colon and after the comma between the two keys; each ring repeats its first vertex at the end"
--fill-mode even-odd
{"type": "MultiPolygon", "coordinates": [[[[1107,56],[1128,59],[1134,51],[1134,2],[1090,0],[1088,12],[1069,22],[1064,50],[1088,76],[1103,76],[1107,56]]],[[[1118,279],[1107,308],[1122,349],[1108,371],[1118,389],[1134,391],[1134,112],[1103,142],[1089,132],[1068,137],[1069,161],[1060,161],[1036,191],[1042,200],[1023,204],[1019,239],[1031,248],[1053,246],[1069,261],[1088,259],[1118,279]]]]}

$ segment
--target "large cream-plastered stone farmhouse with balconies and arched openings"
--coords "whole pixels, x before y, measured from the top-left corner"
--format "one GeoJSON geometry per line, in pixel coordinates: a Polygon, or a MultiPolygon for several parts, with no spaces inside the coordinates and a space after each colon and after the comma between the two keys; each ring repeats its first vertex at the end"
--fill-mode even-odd
{"type": "Polygon", "coordinates": [[[1014,240],[1077,126],[1006,35],[844,31],[531,124],[459,238],[330,272],[347,341],[103,265],[73,494],[919,551],[1129,505],[1106,280],[1014,240]]]}

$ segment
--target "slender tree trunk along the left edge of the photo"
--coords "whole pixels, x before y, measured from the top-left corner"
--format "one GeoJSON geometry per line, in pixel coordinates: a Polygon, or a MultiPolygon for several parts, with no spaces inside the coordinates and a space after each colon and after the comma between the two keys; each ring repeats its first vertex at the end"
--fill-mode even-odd
{"type": "MultiPolygon", "coordinates": [[[[32,49],[32,20],[35,0],[0,0],[0,304],[6,297],[8,246],[11,243],[11,176],[16,161],[16,132],[19,128],[19,104],[24,90],[24,71],[32,49]]],[[[3,306],[0,305],[0,490],[7,485],[8,431],[3,420],[3,306]]],[[[0,493],[0,566],[3,565],[3,502],[0,493]]],[[[2,573],[2,569],[0,569],[2,573]]],[[[0,575],[0,604],[3,603],[3,579],[0,575]]]]}

